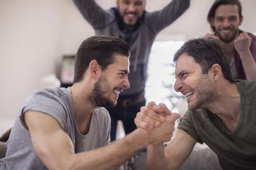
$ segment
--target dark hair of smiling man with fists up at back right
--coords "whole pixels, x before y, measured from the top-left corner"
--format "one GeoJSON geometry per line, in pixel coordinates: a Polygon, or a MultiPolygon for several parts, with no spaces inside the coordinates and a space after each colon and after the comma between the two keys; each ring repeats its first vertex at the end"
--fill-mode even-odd
{"type": "Polygon", "coordinates": [[[215,31],[215,27],[212,26],[211,20],[215,16],[216,9],[221,5],[237,5],[239,18],[241,19],[242,17],[242,6],[239,0],[215,0],[207,16],[207,21],[210,24],[212,31],[215,31]]]}

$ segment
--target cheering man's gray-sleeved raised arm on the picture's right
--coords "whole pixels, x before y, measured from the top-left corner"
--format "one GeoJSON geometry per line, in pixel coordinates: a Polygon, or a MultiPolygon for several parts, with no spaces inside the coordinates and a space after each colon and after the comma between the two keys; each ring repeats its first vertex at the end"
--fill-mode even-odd
{"type": "Polygon", "coordinates": [[[189,5],[190,0],[172,0],[162,10],[146,13],[145,23],[157,34],[177,20],[189,8],[189,5]]]}

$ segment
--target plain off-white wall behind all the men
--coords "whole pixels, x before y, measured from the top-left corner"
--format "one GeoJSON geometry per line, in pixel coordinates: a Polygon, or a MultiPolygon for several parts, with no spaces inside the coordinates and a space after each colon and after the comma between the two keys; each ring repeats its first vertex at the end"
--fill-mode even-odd
{"type": "MultiPolygon", "coordinates": [[[[96,0],[103,8],[116,0],[96,0]]],[[[148,11],[171,0],[147,0],[148,11]]],[[[158,40],[184,35],[199,37],[209,31],[207,13],[214,0],[191,0],[177,21],[158,40]]],[[[241,0],[241,29],[256,32],[256,0],[241,0]]],[[[55,71],[61,56],[75,54],[80,43],[94,34],[72,0],[0,0],[0,119],[14,119],[23,100],[41,87],[41,78],[55,71]]]]}

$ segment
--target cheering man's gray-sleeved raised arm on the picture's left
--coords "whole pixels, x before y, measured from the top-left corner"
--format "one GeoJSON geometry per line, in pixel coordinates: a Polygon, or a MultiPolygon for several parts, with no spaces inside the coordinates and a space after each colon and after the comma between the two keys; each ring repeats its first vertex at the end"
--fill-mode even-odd
{"type": "Polygon", "coordinates": [[[114,14],[102,9],[95,0],[73,0],[85,20],[94,29],[100,29],[115,20],[114,14]]]}

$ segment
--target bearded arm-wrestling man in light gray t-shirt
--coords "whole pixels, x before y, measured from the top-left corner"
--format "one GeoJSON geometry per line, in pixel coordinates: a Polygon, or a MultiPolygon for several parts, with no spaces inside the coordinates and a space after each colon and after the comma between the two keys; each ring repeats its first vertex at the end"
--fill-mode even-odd
{"type": "Polygon", "coordinates": [[[166,116],[160,128],[138,128],[109,144],[110,117],[99,107],[114,107],[129,88],[129,56],[128,43],[118,38],[84,40],[75,58],[74,85],[38,89],[24,102],[0,170],[113,170],[147,144],[169,141],[178,114],[166,116]]]}

